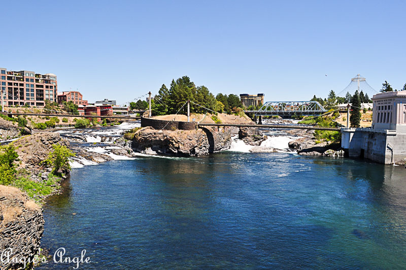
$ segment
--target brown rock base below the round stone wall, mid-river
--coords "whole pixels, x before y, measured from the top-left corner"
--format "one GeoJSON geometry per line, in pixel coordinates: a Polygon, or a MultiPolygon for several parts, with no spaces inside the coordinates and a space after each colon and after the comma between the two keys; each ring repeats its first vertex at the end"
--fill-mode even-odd
{"type": "Polygon", "coordinates": [[[144,128],[136,132],[131,147],[136,152],[175,156],[209,154],[209,140],[201,130],[155,130],[144,128]]]}

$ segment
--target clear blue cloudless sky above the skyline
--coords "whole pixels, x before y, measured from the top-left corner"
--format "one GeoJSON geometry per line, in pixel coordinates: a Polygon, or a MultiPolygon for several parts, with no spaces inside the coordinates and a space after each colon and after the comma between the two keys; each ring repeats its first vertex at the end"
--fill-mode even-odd
{"type": "Polygon", "coordinates": [[[266,101],[406,82],[404,1],[4,1],[0,67],[119,103],[189,76],[266,101]],[[325,76],[327,74],[327,76],[325,76]]]}

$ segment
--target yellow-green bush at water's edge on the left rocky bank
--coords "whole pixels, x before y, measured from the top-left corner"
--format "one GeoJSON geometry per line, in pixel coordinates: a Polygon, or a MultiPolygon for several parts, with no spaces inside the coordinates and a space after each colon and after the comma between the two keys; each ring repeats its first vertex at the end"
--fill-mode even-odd
{"type": "Polygon", "coordinates": [[[75,156],[69,148],[63,145],[52,145],[53,152],[49,153],[48,158],[43,161],[49,167],[52,167],[52,173],[58,174],[59,170],[62,172],[69,171],[71,165],[69,164],[69,158],[75,156]]]}

